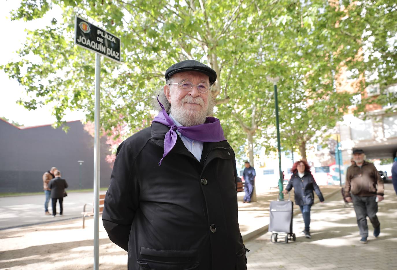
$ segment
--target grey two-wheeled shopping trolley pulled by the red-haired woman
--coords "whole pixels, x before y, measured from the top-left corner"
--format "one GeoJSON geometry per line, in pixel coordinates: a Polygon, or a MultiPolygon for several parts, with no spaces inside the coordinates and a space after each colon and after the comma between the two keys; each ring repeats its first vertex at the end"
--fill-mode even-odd
{"type": "MultiPolygon", "coordinates": [[[[280,192],[281,193],[281,192],[280,192]]],[[[293,205],[291,196],[288,193],[288,200],[280,200],[280,193],[277,201],[270,202],[270,224],[269,232],[272,232],[270,241],[273,243],[288,243],[288,240],[296,240],[292,232],[293,205]],[[282,241],[278,241],[283,239],[282,241]]]]}

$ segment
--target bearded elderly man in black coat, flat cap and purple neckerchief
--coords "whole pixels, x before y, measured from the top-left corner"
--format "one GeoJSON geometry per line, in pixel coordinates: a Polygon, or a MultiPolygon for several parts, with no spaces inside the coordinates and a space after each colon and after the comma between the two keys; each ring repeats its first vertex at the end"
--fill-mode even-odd
{"type": "Polygon", "coordinates": [[[186,60],[165,79],[152,125],[117,149],[104,228],[129,270],[245,270],[235,154],[208,117],[216,72],[186,60]]]}

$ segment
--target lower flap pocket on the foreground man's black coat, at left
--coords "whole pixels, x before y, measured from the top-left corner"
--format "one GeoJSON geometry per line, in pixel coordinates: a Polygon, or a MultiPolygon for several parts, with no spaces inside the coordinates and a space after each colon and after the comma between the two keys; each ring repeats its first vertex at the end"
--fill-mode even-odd
{"type": "Polygon", "coordinates": [[[141,247],[137,260],[142,270],[193,270],[199,262],[197,250],[157,250],[141,247]]]}

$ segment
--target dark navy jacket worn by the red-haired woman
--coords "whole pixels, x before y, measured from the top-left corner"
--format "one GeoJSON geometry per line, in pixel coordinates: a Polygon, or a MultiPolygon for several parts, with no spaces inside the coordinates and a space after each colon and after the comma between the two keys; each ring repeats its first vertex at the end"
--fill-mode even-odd
{"type": "Polygon", "coordinates": [[[302,178],[299,177],[298,173],[294,173],[285,189],[290,191],[292,187],[294,188],[295,204],[297,205],[312,205],[314,202],[313,190],[316,191],[318,199],[324,201],[320,188],[318,188],[310,172],[304,172],[302,178]]]}

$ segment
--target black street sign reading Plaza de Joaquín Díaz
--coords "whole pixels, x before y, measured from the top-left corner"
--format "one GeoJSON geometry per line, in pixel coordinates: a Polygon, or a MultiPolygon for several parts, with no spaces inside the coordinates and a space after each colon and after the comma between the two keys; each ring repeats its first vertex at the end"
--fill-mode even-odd
{"type": "Polygon", "coordinates": [[[77,16],[75,44],[120,63],[120,39],[77,16]]]}

